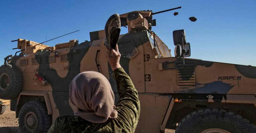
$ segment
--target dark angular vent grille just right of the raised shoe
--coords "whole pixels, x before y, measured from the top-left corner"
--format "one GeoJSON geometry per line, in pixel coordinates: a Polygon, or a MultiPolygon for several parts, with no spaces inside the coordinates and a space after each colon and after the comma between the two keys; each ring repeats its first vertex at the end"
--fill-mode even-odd
{"type": "Polygon", "coordinates": [[[121,57],[132,59],[139,53],[132,41],[122,41],[117,44],[121,57]]]}

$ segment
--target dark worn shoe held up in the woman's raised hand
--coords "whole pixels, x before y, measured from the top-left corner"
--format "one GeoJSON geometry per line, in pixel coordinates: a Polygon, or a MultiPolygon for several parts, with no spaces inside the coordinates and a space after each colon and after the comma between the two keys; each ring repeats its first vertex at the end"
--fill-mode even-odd
{"type": "Polygon", "coordinates": [[[116,48],[116,44],[119,38],[121,30],[121,21],[119,14],[113,14],[110,16],[105,25],[105,46],[108,50],[116,48]]]}

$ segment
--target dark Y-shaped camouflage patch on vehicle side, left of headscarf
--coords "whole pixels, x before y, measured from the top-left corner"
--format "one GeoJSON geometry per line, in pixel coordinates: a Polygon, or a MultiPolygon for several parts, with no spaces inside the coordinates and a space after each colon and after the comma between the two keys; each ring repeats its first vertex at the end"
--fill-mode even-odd
{"type": "Polygon", "coordinates": [[[49,51],[43,51],[36,54],[36,60],[40,62],[39,75],[44,77],[51,84],[53,98],[60,111],[60,115],[70,115],[70,113],[72,113],[68,104],[69,83],[80,73],[80,62],[89,50],[90,44],[91,42],[83,42],[69,51],[67,54],[69,68],[65,78],[61,78],[55,69],[50,68],[49,51]]]}

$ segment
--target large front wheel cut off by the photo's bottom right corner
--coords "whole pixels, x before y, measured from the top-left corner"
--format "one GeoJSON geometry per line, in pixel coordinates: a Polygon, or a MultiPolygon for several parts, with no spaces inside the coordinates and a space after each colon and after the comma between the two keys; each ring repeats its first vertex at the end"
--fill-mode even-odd
{"type": "Polygon", "coordinates": [[[226,110],[203,109],[185,116],[176,133],[255,133],[249,120],[226,110]]]}

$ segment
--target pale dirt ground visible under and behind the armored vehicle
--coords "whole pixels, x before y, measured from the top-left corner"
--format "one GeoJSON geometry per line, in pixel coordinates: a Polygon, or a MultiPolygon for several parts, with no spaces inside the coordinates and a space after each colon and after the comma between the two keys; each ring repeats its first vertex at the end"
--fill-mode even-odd
{"type": "MultiPolygon", "coordinates": [[[[6,105],[6,111],[0,115],[0,133],[21,133],[19,132],[18,118],[15,118],[15,111],[10,111],[10,100],[2,100],[6,105]]],[[[166,129],[165,133],[175,133],[175,130],[166,129]]]]}

